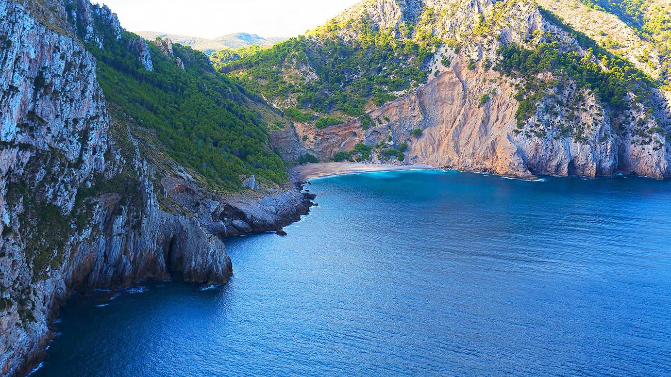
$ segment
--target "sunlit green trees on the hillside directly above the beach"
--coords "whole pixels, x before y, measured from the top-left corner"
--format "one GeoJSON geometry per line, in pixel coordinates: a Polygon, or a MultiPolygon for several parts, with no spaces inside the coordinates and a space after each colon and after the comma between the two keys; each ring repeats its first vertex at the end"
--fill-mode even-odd
{"type": "Polygon", "coordinates": [[[423,23],[402,21],[393,29],[366,18],[333,19],[308,36],[268,49],[221,50],[211,60],[289,116],[297,109],[307,114],[297,121],[310,121],[313,113],[358,117],[366,105],[380,106],[425,83],[425,63],[442,43],[427,28],[433,17],[427,9],[423,23]]]}

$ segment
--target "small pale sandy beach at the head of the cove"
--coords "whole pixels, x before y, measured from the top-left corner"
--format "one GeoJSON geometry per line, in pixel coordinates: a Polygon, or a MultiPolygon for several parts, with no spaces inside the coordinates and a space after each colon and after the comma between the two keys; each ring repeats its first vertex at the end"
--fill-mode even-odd
{"type": "Polygon", "coordinates": [[[429,165],[383,165],[383,164],[357,164],[352,162],[321,162],[319,164],[307,164],[293,168],[298,172],[300,180],[310,178],[323,178],[342,174],[355,174],[365,172],[392,172],[397,170],[433,170],[435,166],[429,165]]]}

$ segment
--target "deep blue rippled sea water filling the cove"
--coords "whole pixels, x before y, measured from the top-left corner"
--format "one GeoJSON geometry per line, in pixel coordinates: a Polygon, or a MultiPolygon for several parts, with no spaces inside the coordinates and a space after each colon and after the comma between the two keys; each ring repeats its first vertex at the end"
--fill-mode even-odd
{"type": "Polygon", "coordinates": [[[235,276],[74,299],[34,376],[670,376],[671,182],[315,180],[235,276]]]}

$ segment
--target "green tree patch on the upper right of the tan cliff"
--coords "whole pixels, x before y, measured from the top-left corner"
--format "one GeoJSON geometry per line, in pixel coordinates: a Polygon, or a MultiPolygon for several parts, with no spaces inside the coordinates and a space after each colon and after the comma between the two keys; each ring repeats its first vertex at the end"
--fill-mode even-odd
{"type": "MultiPolygon", "coordinates": [[[[517,133],[521,132],[529,118],[537,111],[537,105],[544,101],[550,91],[561,91],[568,85],[576,85],[585,94],[593,93],[596,98],[612,111],[629,109],[633,93],[633,101],[646,103],[650,89],[656,83],[631,62],[615,56],[584,34],[566,25],[559,17],[541,9],[541,14],[562,30],[576,37],[584,50],[566,48],[552,36],[544,36],[535,46],[535,50],[523,48],[511,43],[501,46],[497,54],[501,57],[495,70],[507,76],[523,78],[515,99],[519,102],[517,109],[517,133]],[[548,76],[547,73],[551,73],[548,76]]],[[[582,95],[572,99],[569,107],[580,107],[582,95]]],[[[567,123],[568,124],[568,123],[567,123]]],[[[574,140],[584,142],[584,126],[576,129],[562,126],[556,137],[572,135],[574,140]]],[[[663,130],[662,130],[663,131],[663,130]]],[[[537,136],[544,136],[543,131],[536,130],[537,136]]]]}

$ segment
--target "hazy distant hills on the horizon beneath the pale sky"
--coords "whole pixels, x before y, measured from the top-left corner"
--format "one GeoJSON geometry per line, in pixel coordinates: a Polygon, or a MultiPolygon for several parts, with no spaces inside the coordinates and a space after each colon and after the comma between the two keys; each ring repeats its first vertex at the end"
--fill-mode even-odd
{"type": "Polygon", "coordinates": [[[210,54],[211,52],[223,50],[225,48],[241,48],[252,46],[254,44],[258,46],[272,46],[278,42],[284,42],[288,38],[284,37],[269,37],[264,38],[258,36],[258,34],[250,33],[233,33],[225,34],[223,36],[218,36],[213,39],[193,37],[193,36],[183,36],[180,34],[170,34],[164,32],[135,32],[138,36],[146,40],[155,40],[156,37],[160,38],[170,38],[172,42],[181,44],[183,46],[191,46],[195,50],[200,50],[205,52],[205,54],[210,54]]]}

